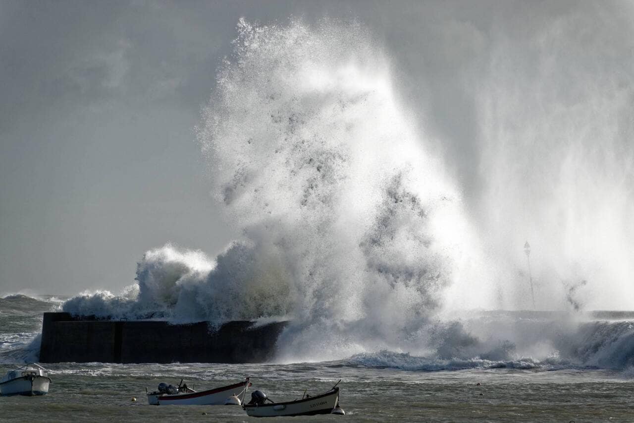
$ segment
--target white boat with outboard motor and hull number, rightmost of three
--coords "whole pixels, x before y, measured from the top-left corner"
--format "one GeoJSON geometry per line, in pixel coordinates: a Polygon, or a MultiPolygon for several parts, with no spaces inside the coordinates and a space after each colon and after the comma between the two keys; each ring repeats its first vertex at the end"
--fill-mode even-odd
{"type": "MultiPolygon", "coordinates": [[[[339,382],[337,382],[339,384],[339,382]]],[[[251,417],[276,417],[294,415],[316,415],[316,414],[345,414],[339,407],[339,388],[333,386],[330,391],[316,396],[307,396],[301,400],[288,401],[286,403],[270,404],[264,401],[271,401],[264,393],[254,391],[251,394],[251,401],[242,408],[251,417]],[[259,394],[257,394],[259,393],[259,394]]]]}

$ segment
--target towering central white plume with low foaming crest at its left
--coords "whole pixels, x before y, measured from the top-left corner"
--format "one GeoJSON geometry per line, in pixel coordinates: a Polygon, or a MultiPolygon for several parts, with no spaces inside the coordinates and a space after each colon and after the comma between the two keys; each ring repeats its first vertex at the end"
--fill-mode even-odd
{"type": "Polygon", "coordinates": [[[420,347],[470,231],[387,56],[356,24],[241,20],[238,34],[198,139],[242,237],[215,260],[152,250],[132,295],[64,309],[215,324],[288,316],[285,359],[420,347]]]}

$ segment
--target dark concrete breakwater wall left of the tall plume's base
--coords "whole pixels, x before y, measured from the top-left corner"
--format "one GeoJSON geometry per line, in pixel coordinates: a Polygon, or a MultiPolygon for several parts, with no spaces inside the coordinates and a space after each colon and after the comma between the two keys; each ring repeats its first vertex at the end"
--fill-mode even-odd
{"type": "Polygon", "coordinates": [[[39,359],[42,363],[261,363],[273,356],[286,324],[231,321],[214,332],[206,322],[171,325],[45,312],[39,359]]]}

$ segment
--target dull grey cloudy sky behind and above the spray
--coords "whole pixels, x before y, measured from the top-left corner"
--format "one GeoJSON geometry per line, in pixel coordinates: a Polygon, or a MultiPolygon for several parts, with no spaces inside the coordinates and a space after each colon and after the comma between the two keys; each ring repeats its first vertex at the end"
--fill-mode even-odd
{"type": "Polygon", "coordinates": [[[597,17],[591,28],[609,22],[605,39],[631,39],[631,7],[619,2],[1,0],[0,294],[119,290],[149,248],[213,255],[232,238],[193,126],[240,17],[368,25],[416,124],[477,203],[468,87],[490,69],[493,39],[530,63],[525,41],[577,13],[597,17]]]}

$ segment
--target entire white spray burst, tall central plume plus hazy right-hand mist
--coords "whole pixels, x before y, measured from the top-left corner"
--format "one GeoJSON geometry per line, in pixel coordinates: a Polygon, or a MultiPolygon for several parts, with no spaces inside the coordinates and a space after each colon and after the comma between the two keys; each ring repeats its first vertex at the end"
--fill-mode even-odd
{"type": "MultiPolygon", "coordinates": [[[[518,321],[465,319],[459,310],[530,307],[527,234],[540,263],[538,308],[631,308],[607,295],[631,292],[622,285],[633,261],[632,126],[614,125],[631,111],[632,85],[618,85],[623,92],[608,102],[602,83],[571,82],[578,91],[561,104],[549,84],[531,91],[534,76],[515,74],[507,41],[491,48],[493,69],[465,88],[480,106],[481,157],[473,159],[483,186],[467,203],[447,158],[399,100],[387,51],[363,25],[240,20],[198,140],[212,192],[242,236],[213,260],[169,244],[146,252],[124,295],[86,293],[63,309],[214,325],[289,319],[281,361],[380,350],[478,363],[562,351],[578,359],[586,350],[571,351],[574,336],[605,340],[604,328],[579,328],[571,314],[518,321]],[[596,128],[587,123],[593,111],[596,128]],[[592,303],[588,293],[601,286],[611,290],[592,303]],[[562,343],[562,333],[573,335],[562,343]]],[[[552,43],[540,43],[540,69],[556,66],[546,54],[552,43]]],[[[631,82],[631,71],[623,78],[631,82]]],[[[625,326],[614,330],[630,336],[625,326]]],[[[612,363],[610,351],[579,359],[612,363]]]]}

